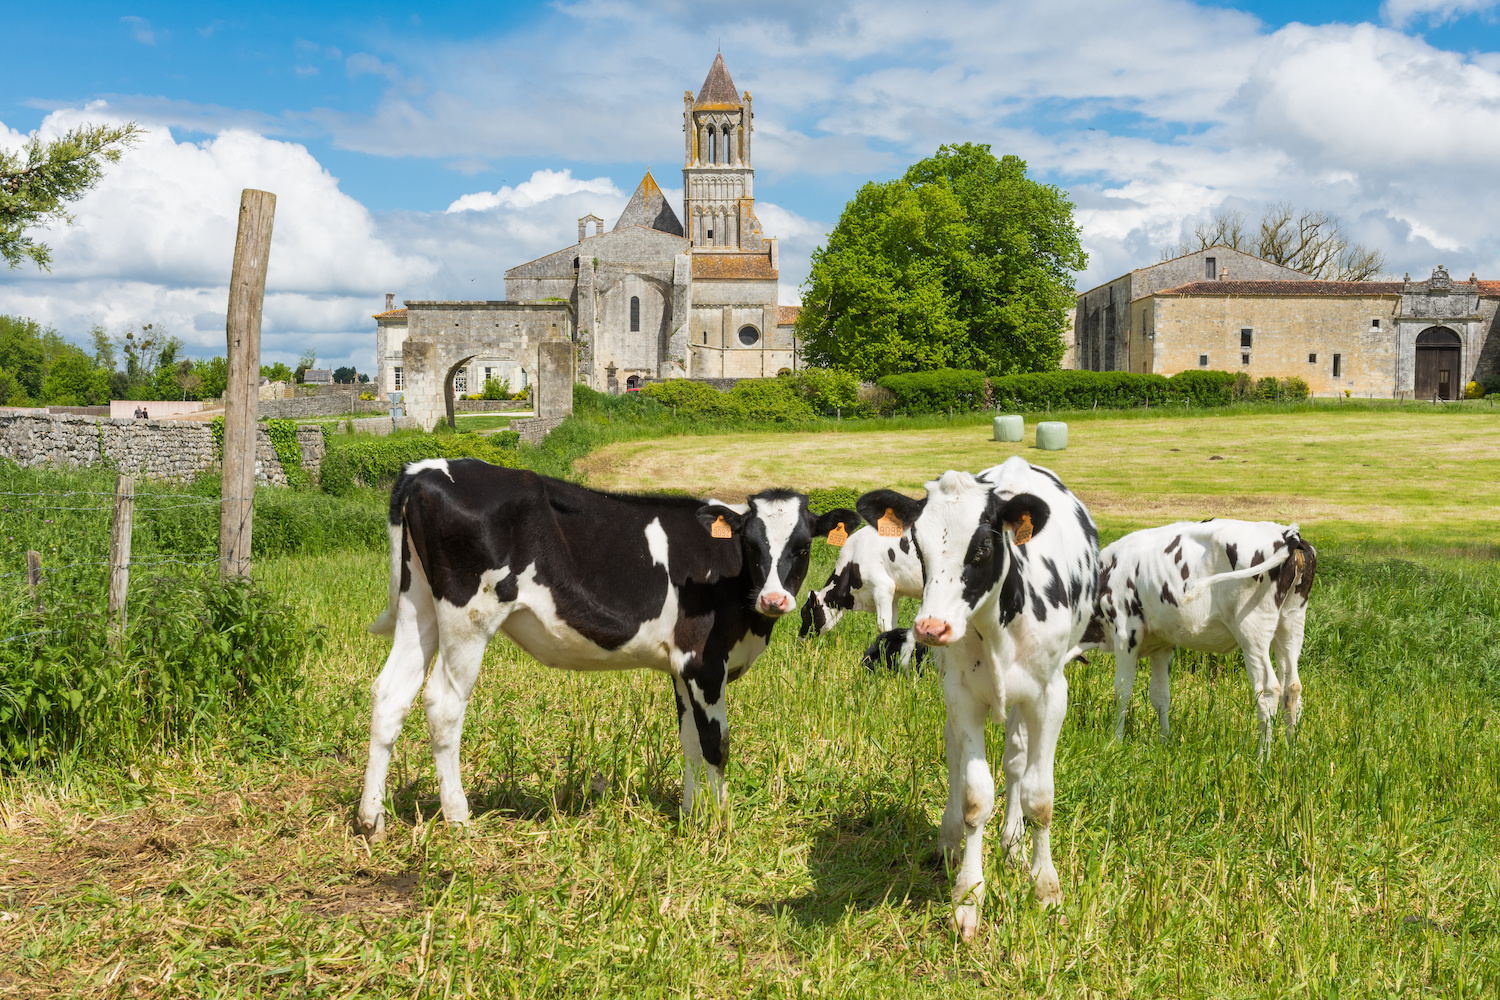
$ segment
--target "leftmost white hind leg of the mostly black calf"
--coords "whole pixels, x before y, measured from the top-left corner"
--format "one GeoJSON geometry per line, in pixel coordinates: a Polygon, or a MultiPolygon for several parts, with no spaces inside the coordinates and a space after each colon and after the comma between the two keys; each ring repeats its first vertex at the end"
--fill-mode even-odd
{"type": "MultiPolygon", "coordinates": [[[[414,561],[416,562],[416,561],[414,561]]],[[[370,703],[370,754],[364,765],[364,792],[354,820],[354,832],[380,838],[386,832],[386,772],[390,750],[400,735],[428,661],[438,649],[438,619],[434,613],[432,591],[414,565],[411,589],[396,601],[396,630],[390,655],[375,678],[370,703]]]]}

